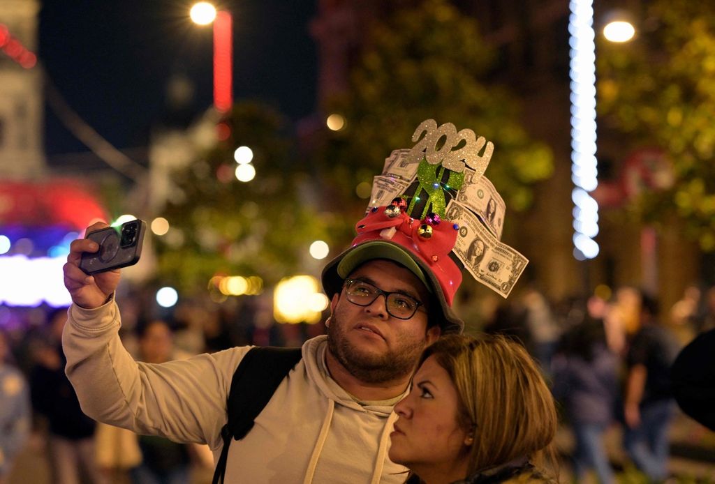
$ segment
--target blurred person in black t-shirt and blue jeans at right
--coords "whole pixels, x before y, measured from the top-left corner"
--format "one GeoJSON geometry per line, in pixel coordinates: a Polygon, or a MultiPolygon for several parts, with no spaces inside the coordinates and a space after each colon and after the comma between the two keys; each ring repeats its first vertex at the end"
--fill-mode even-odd
{"type": "Polygon", "coordinates": [[[641,291],[638,331],[628,344],[623,390],[623,448],[652,480],[668,477],[669,426],[675,413],[670,367],[679,351],[658,320],[658,301],[641,291]]]}

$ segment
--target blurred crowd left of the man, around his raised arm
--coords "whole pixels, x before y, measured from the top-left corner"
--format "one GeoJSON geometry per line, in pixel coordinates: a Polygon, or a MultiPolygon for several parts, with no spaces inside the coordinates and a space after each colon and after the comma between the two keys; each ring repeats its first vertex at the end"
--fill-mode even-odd
{"type": "MultiPolygon", "coordinates": [[[[275,324],[264,297],[222,305],[186,301],[163,314],[146,311],[150,305],[142,293],[118,298],[126,308],[124,346],[137,361],[149,363],[240,345],[300,346],[324,329],[275,324]]],[[[0,306],[0,484],[11,482],[21,450],[46,459],[49,483],[210,482],[213,457],[206,445],[136,435],[82,413],[64,374],[66,313],[67,308],[0,306]]]]}

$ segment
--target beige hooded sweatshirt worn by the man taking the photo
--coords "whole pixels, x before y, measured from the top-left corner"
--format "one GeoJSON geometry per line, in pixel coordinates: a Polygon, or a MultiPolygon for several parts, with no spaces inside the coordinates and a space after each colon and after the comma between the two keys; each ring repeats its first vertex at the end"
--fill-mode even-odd
{"type": "MultiPolygon", "coordinates": [[[[138,363],[119,341],[119,308],[71,306],[66,373],[90,417],[177,442],[207,443],[218,459],[233,373],[249,347],[161,365],[138,363]]],[[[402,483],[388,459],[390,405],[360,405],[327,373],[325,336],[277,388],[250,433],[229,448],[226,483],[402,483]]]]}

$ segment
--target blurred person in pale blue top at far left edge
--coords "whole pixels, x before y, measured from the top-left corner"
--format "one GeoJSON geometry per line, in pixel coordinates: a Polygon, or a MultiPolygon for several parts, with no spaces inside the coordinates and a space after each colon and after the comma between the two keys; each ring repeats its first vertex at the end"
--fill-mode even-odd
{"type": "Polygon", "coordinates": [[[0,331],[0,484],[8,482],[31,423],[29,387],[11,361],[9,338],[0,331]]]}

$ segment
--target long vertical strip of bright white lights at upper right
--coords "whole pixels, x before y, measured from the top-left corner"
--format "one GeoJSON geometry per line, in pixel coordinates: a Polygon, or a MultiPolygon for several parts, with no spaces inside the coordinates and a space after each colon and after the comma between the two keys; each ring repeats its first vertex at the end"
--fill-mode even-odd
{"type": "Polygon", "coordinates": [[[589,192],[598,186],[596,164],[596,43],[593,1],[571,0],[568,8],[568,75],[571,78],[571,180],[573,256],[598,256],[598,203],[589,192]]]}

